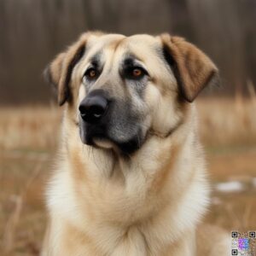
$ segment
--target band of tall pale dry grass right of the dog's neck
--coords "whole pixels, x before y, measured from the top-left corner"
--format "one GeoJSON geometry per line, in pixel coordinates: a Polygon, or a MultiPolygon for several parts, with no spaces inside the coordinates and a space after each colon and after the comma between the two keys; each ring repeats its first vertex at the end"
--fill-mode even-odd
{"type": "Polygon", "coordinates": [[[206,98],[197,107],[201,137],[207,145],[255,145],[256,98],[206,98]]]}

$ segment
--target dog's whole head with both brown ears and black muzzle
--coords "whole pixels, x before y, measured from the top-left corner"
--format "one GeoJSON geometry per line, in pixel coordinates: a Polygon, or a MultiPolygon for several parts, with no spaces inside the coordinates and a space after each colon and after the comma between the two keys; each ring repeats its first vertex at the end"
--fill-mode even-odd
{"type": "Polygon", "coordinates": [[[183,38],[88,32],[46,70],[58,102],[73,109],[82,143],[131,154],[148,134],[167,136],[216,76],[212,61],[183,38]]]}

